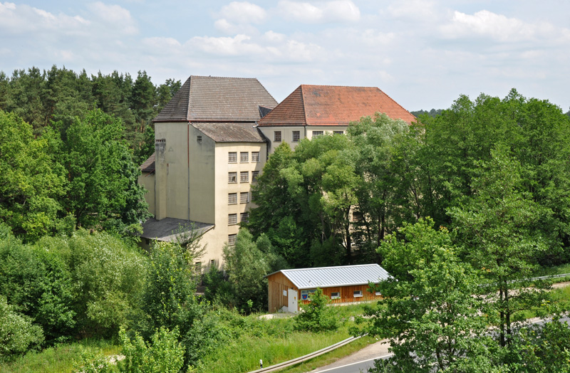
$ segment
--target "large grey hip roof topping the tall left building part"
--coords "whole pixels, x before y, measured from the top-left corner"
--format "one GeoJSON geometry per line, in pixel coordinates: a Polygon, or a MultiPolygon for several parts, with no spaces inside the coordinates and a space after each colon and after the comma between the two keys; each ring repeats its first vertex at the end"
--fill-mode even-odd
{"type": "Polygon", "coordinates": [[[155,122],[256,122],[276,100],[256,78],[190,76],[155,122]]]}

